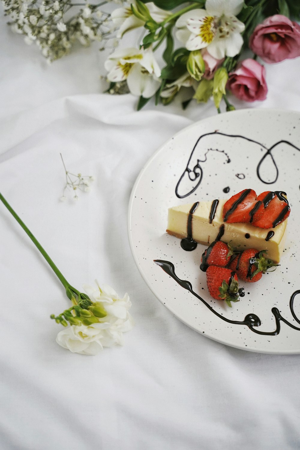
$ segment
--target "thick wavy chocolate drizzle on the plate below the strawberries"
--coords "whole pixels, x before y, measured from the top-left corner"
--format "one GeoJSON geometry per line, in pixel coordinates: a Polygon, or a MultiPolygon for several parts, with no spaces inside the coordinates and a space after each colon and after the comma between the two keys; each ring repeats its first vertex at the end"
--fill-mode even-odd
{"type": "MultiPolygon", "coordinates": [[[[217,311],[215,311],[202,297],[200,297],[200,295],[198,295],[196,292],[194,292],[192,284],[188,280],[182,280],[175,274],[175,267],[174,267],[173,263],[171,263],[170,261],[164,261],[164,260],[159,260],[159,259],[154,260],[154,262],[158,266],[160,266],[162,268],[162,270],[164,270],[166,272],[166,274],[168,274],[171,278],[173,278],[182,288],[186,289],[191,294],[193,294],[195,297],[197,297],[198,300],[200,300],[213,314],[218,316],[219,319],[222,319],[229,324],[246,325],[251,331],[253,331],[253,333],[266,335],[266,336],[277,336],[280,332],[280,322],[281,321],[284,322],[285,324],[287,324],[292,329],[300,331],[299,327],[296,327],[295,325],[288,322],[288,320],[284,319],[284,317],[282,317],[282,315],[280,314],[278,308],[275,308],[275,307],[273,307],[271,310],[275,317],[275,323],[276,323],[276,329],[274,331],[260,331],[258,329],[255,329],[254,327],[259,327],[261,325],[261,321],[260,321],[260,318],[258,317],[258,315],[254,314],[254,313],[247,314],[245,316],[245,319],[242,321],[227,319],[227,317],[224,317],[223,315],[221,315],[217,311]]],[[[294,307],[293,307],[294,300],[295,300],[295,297],[297,294],[300,294],[300,290],[295,291],[291,295],[290,310],[291,310],[291,314],[294,317],[294,319],[296,320],[296,322],[298,324],[300,324],[300,320],[297,318],[297,316],[294,312],[294,307]]]]}

